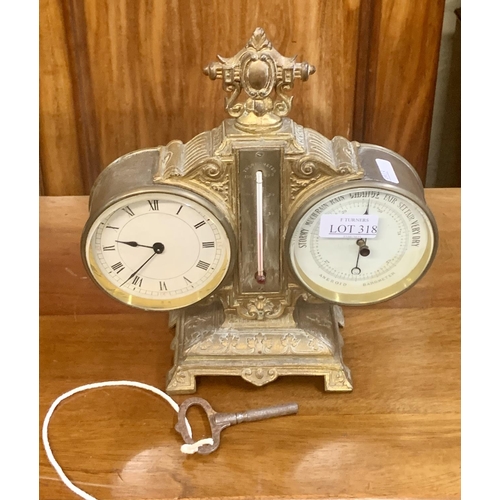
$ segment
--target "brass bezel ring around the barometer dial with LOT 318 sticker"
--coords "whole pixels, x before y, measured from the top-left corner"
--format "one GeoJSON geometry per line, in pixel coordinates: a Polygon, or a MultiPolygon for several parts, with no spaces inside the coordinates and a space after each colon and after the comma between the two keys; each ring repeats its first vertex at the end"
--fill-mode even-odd
{"type": "MultiPolygon", "coordinates": [[[[420,199],[418,196],[416,196],[414,193],[401,188],[400,186],[393,185],[387,182],[380,182],[377,180],[367,180],[365,179],[360,179],[360,180],[352,180],[352,181],[347,181],[347,182],[342,182],[340,184],[336,185],[330,185],[328,187],[325,187],[319,192],[316,192],[311,198],[309,198],[306,202],[304,202],[300,207],[297,208],[297,210],[293,213],[293,215],[289,219],[289,223],[287,224],[286,228],[286,237],[285,237],[285,253],[286,253],[286,264],[288,268],[288,273],[292,277],[292,279],[301,287],[303,287],[307,292],[311,293],[313,296],[325,301],[325,302],[331,302],[334,304],[338,304],[341,306],[365,306],[365,305],[371,305],[371,304],[378,304],[381,302],[385,302],[387,300],[391,300],[395,297],[398,297],[402,293],[405,293],[409,289],[411,289],[416,283],[418,283],[424,275],[427,273],[429,268],[431,267],[434,258],[437,253],[439,245],[439,233],[438,233],[438,228],[436,224],[436,220],[434,218],[434,215],[430,211],[429,207],[426,205],[425,200],[420,199]],[[404,287],[402,287],[399,291],[393,291],[397,290],[400,288],[400,283],[403,280],[398,281],[397,283],[393,284],[390,287],[382,289],[380,292],[369,292],[367,294],[349,294],[353,298],[358,299],[357,302],[351,302],[351,301],[346,301],[346,300],[336,300],[336,299],[331,299],[327,298],[324,295],[321,295],[318,293],[311,285],[307,283],[307,279],[302,278],[301,276],[298,275],[298,271],[296,271],[295,266],[292,263],[292,249],[291,249],[291,243],[292,243],[292,236],[293,233],[299,224],[299,222],[302,220],[302,218],[305,216],[305,214],[316,204],[321,202],[322,200],[329,198],[331,196],[335,196],[336,194],[340,194],[342,191],[346,190],[351,190],[351,189],[377,189],[377,190],[385,190],[389,192],[393,192],[395,195],[403,198],[407,198],[411,202],[415,203],[418,208],[423,212],[423,215],[427,218],[429,222],[429,226],[431,228],[431,238],[432,241],[429,241],[429,245],[432,245],[432,248],[430,250],[430,253],[426,253],[419,264],[415,266],[408,274],[407,274],[407,283],[404,287]],[[428,255],[428,256],[427,256],[428,255]],[[422,260],[426,259],[426,262],[422,263],[422,260]],[[385,291],[388,291],[388,293],[382,293],[385,291]],[[370,300],[372,296],[380,295],[379,298],[376,298],[375,300],[370,300]]],[[[323,288],[317,286],[317,288],[323,288]]],[[[341,295],[338,293],[330,292],[331,296],[334,295],[341,295]]],[[[347,295],[347,294],[345,294],[347,295]]]]}

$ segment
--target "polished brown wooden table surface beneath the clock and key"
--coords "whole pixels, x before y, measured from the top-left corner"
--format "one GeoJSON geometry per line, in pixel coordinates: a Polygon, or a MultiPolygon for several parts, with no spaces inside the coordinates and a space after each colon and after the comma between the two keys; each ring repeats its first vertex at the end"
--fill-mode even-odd
{"type": "MultiPolygon", "coordinates": [[[[426,276],[398,298],[344,308],[351,393],[322,377],[257,388],[200,377],[217,411],[288,401],[299,413],[226,429],[211,455],[184,455],[176,413],[135,388],[104,388],[58,407],[49,436],[68,477],[99,500],[171,498],[460,497],[460,189],[428,189],[440,231],[426,276]]],[[[134,380],[165,389],[173,331],[167,314],[108,298],[87,278],[79,239],[87,197],[40,198],[40,428],[51,403],[77,386],[134,380]]],[[[182,402],[188,396],[175,396],[182,402]]],[[[190,410],[195,437],[207,434],[190,410]]],[[[40,439],[40,499],[78,498],[40,439]]]]}

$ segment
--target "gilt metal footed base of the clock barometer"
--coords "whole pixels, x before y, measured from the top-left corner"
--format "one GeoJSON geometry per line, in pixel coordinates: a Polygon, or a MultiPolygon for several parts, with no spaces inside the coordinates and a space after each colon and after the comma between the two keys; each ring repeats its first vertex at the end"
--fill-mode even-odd
{"type": "Polygon", "coordinates": [[[219,302],[192,306],[170,315],[176,325],[170,394],[196,392],[196,377],[236,375],[262,386],[283,375],[316,375],[325,391],[351,391],[350,370],[342,360],[342,309],[299,300],[292,324],[281,321],[224,322],[219,302]]]}

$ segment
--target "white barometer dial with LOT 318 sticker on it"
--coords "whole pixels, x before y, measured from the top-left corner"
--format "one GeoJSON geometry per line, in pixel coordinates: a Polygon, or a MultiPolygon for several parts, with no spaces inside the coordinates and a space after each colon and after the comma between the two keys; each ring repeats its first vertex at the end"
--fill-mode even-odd
{"type": "Polygon", "coordinates": [[[308,208],[290,238],[290,264],[314,295],[345,305],[391,298],[429,267],[436,232],[428,212],[398,192],[339,189],[308,208]]]}

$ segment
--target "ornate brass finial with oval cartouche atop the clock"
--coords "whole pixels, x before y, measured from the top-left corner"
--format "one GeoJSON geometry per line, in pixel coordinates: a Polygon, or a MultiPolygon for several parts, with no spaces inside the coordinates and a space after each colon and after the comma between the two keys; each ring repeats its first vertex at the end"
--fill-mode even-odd
{"type": "Polygon", "coordinates": [[[222,80],[222,88],[231,92],[226,97],[226,111],[236,118],[236,126],[248,132],[277,129],[281,118],[292,107],[292,96],[285,91],[293,87],[295,78],[306,81],[316,69],[307,62],[296,63],[294,57],[284,57],[273,48],[262,28],[257,28],[246,46],[235,56],[217,56],[204,73],[222,80]],[[236,102],[241,90],[248,95],[244,102],[236,102]],[[275,92],[274,99],[270,97],[275,92]]]}

